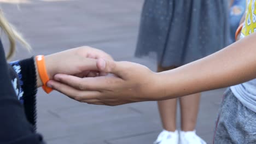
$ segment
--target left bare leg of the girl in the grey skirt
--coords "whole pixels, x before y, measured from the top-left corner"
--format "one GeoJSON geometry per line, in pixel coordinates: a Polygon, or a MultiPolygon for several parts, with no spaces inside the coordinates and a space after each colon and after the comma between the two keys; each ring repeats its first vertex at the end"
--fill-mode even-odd
{"type": "MultiPolygon", "coordinates": [[[[176,67],[158,67],[158,72],[174,69],[176,67]]],[[[167,131],[176,130],[177,99],[158,101],[158,109],[162,121],[162,127],[167,131]]]]}

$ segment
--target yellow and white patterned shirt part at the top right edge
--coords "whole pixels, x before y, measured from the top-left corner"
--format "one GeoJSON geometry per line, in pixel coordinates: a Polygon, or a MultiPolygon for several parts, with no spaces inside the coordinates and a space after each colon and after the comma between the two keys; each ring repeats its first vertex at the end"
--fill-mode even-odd
{"type": "Polygon", "coordinates": [[[241,38],[256,32],[256,0],[246,1],[246,19],[243,23],[241,38]]]}

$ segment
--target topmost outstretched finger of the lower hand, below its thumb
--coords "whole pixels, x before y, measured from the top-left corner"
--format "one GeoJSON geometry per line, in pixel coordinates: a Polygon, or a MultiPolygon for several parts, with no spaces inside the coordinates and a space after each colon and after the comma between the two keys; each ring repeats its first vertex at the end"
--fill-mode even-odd
{"type": "Polygon", "coordinates": [[[81,91],[102,91],[116,87],[122,81],[114,76],[75,77],[72,75],[56,74],[54,80],[64,83],[81,91]]]}

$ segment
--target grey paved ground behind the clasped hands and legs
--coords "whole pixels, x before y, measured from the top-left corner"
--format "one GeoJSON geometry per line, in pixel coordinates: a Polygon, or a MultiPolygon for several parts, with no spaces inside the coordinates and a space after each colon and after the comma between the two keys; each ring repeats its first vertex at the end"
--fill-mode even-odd
{"type": "MultiPolygon", "coordinates": [[[[155,70],[152,59],[133,57],[142,0],[20,2],[25,3],[1,4],[34,49],[27,53],[19,48],[15,59],[90,45],[117,60],[142,63],[155,70]]],[[[202,95],[197,131],[208,143],[212,141],[223,91],[202,95]]],[[[78,103],[57,92],[38,93],[38,131],[50,144],[152,143],[160,130],[155,102],[107,107],[78,103]]]]}

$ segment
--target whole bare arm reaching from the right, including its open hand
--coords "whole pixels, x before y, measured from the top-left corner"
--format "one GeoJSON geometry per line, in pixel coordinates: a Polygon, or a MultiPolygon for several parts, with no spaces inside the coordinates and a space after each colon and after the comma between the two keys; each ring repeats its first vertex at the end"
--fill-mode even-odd
{"type": "Polygon", "coordinates": [[[153,73],[140,64],[100,59],[98,69],[115,76],[79,78],[57,74],[56,81],[49,81],[48,85],[72,99],[90,104],[120,105],[172,99],[254,79],[255,53],[256,34],[252,34],[174,70],[153,73]]]}

